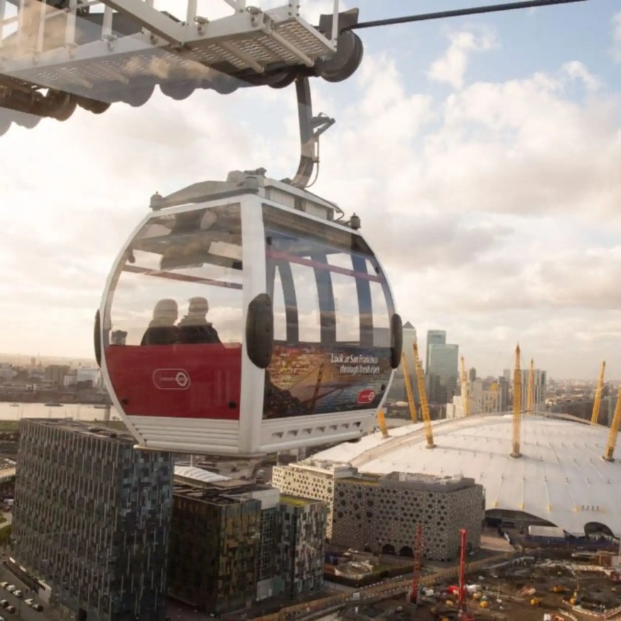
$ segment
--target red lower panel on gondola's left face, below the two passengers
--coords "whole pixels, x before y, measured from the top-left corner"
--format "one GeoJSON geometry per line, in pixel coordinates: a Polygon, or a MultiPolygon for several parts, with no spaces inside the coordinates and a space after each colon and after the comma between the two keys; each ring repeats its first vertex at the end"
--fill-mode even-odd
{"type": "Polygon", "coordinates": [[[110,345],[105,357],[127,416],[239,419],[240,345],[110,345]]]}

